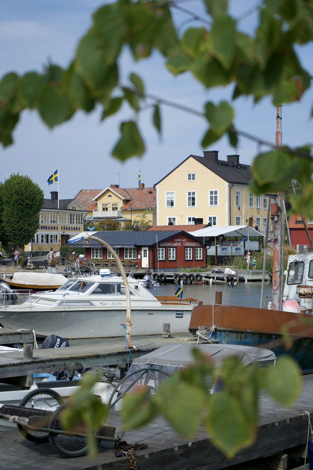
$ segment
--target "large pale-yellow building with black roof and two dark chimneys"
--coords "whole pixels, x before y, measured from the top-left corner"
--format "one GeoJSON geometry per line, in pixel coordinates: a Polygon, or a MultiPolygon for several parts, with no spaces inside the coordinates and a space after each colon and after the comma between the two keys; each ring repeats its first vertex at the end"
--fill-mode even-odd
{"type": "Polygon", "coordinates": [[[190,155],[154,188],[157,194],[156,225],[210,223],[216,226],[258,225],[267,222],[266,196],[249,190],[250,166],[239,155],[218,159],[218,151],[190,155]]]}

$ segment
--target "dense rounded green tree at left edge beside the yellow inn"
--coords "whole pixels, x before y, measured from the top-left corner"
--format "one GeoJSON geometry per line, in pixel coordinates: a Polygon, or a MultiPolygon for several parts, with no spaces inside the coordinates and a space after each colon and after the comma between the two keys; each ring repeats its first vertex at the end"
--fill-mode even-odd
{"type": "Polygon", "coordinates": [[[44,193],[29,176],[13,173],[0,183],[0,240],[5,250],[8,243],[22,248],[31,241],[43,204],[44,193]]]}

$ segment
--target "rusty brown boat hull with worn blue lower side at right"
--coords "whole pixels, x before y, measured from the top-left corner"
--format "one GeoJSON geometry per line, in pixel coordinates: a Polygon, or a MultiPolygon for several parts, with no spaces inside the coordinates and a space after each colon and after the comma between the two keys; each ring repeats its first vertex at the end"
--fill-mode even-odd
{"type": "Polygon", "coordinates": [[[313,372],[313,316],[261,308],[229,305],[194,307],[189,331],[198,326],[211,329],[208,337],[221,344],[261,346],[287,354],[297,360],[303,372],[313,372]],[[288,330],[292,345],[288,349],[282,331],[288,330]]]}

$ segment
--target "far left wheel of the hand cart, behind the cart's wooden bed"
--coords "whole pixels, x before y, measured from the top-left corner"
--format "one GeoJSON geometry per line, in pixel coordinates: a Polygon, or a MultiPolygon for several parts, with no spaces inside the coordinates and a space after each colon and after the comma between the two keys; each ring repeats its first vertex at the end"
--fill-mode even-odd
{"type": "MultiPolygon", "coordinates": [[[[38,410],[55,411],[63,403],[59,393],[50,388],[36,389],[29,392],[22,399],[20,406],[38,410]]],[[[27,430],[20,424],[17,427],[24,438],[31,442],[48,442],[48,431],[27,430]]]]}

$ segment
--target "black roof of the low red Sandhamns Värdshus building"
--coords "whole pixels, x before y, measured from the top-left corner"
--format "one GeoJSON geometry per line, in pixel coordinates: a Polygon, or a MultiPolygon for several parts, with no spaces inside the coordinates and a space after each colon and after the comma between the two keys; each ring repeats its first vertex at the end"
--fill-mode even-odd
{"type": "MultiPolygon", "coordinates": [[[[92,233],[91,233],[92,235],[92,233]]],[[[97,232],[95,236],[107,242],[113,248],[116,247],[136,247],[136,246],[156,246],[157,243],[164,242],[173,238],[177,235],[184,235],[201,242],[203,244],[203,239],[191,235],[183,230],[156,230],[151,231],[134,231],[134,230],[106,230],[103,232],[97,232]]],[[[206,243],[204,243],[206,244],[206,243]]],[[[77,240],[76,242],[71,243],[73,247],[84,247],[84,240],[77,240]]],[[[95,240],[89,240],[88,246],[99,247],[99,242],[95,240]]]]}

